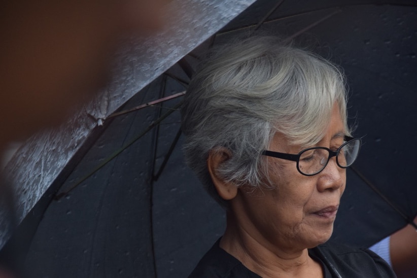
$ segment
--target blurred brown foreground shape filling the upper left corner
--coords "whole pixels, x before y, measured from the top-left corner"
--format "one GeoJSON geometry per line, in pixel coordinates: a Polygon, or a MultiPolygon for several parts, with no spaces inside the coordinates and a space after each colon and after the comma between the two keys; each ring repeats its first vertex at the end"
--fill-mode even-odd
{"type": "Polygon", "coordinates": [[[60,123],[109,74],[122,36],[162,25],[166,0],[8,1],[0,12],[0,149],[60,123]]]}

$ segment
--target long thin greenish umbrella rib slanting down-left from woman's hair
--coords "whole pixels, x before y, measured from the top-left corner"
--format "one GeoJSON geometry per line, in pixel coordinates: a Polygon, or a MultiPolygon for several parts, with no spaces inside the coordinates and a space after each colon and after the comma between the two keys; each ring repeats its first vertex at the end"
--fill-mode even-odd
{"type": "MultiPolygon", "coordinates": [[[[178,109],[182,105],[182,102],[178,103],[173,109],[178,109]]],[[[135,138],[133,138],[129,143],[127,143],[125,146],[120,148],[119,150],[115,151],[112,155],[110,155],[105,161],[98,164],[90,173],[88,173],[86,176],[81,178],[78,182],[76,182],[72,187],[70,187],[65,192],[61,192],[59,194],[55,195],[55,200],[59,200],[62,197],[66,196],[68,193],[70,193],[72,190],[74,190],[76,187],[78,187],[81,183],[83,183],[85,180],[87,180],[89,177],[91,177],[96,171],[101,169],[103,166],[105,166],[107,163],[112,161],[115,157],[117,157],[119,154],[121,154],[124,150],[129,148],[133,143],[135,143],[137,140],[142,138],[146,133],[148,133],[152,128],[160,124],[166,117],[171,115],[175,110],[170,110],[163,114],[161,117],[159,117],[157,120],[155,120],[153,123],[151,123],[141,134],[137,135],[135,138]]]]}

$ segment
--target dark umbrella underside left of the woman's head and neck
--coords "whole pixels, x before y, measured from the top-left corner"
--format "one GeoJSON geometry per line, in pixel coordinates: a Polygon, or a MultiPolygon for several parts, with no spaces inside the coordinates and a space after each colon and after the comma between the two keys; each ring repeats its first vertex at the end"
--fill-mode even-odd
{"type": "MultiPolygon", "coordinates": [[[[174,66],[123,109],[183,91],[179,80],[188,77],[181,72],[174,66]]],[[[184,165],[181,148],[163,166],[180,126],[172,108],[180,103],[118,116],[106,127],[43,214],[24,262],[28,275],[182,277],[192,270],[220,236],[223,211],[184,165]]]]}

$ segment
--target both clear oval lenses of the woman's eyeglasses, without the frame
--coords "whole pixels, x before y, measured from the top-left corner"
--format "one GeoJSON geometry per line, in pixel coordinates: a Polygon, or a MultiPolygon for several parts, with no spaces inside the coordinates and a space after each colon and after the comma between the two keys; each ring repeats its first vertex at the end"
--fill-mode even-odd
{"type": "MultiPolygon", "coordinates": [[[[359,147],[360,140],[351,140],[340,146],[336,157],[339,167],[352,165],[358,157],[359,147]]],[[[307,149],[300,154],[298,168],[305,175],[314,175],[326,167],[329,155],[329,151],[324,148],[307,149]]]]}

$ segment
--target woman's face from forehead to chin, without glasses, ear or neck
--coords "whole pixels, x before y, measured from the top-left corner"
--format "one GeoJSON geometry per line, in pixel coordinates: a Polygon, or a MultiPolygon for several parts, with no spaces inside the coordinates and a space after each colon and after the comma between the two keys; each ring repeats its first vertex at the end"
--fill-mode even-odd
{"type": "MultiPolygon", "coordinates": [[[[330,125],[317,146],[336,150],[344,132],[334,105],[330,125]]],[[[275,134],[269,150],[297,154],[301,148],[275,134]]],[[[334,157],[323,171],[310,177],[301,175],[294,161],[268,157],[267,165],[274,189],[239,189],[237,217],[245,223],[245,230],[263,245],[285,250],[313,248],[327,241],[345,188],[345,169],[336,165],[334,157]]]]}

